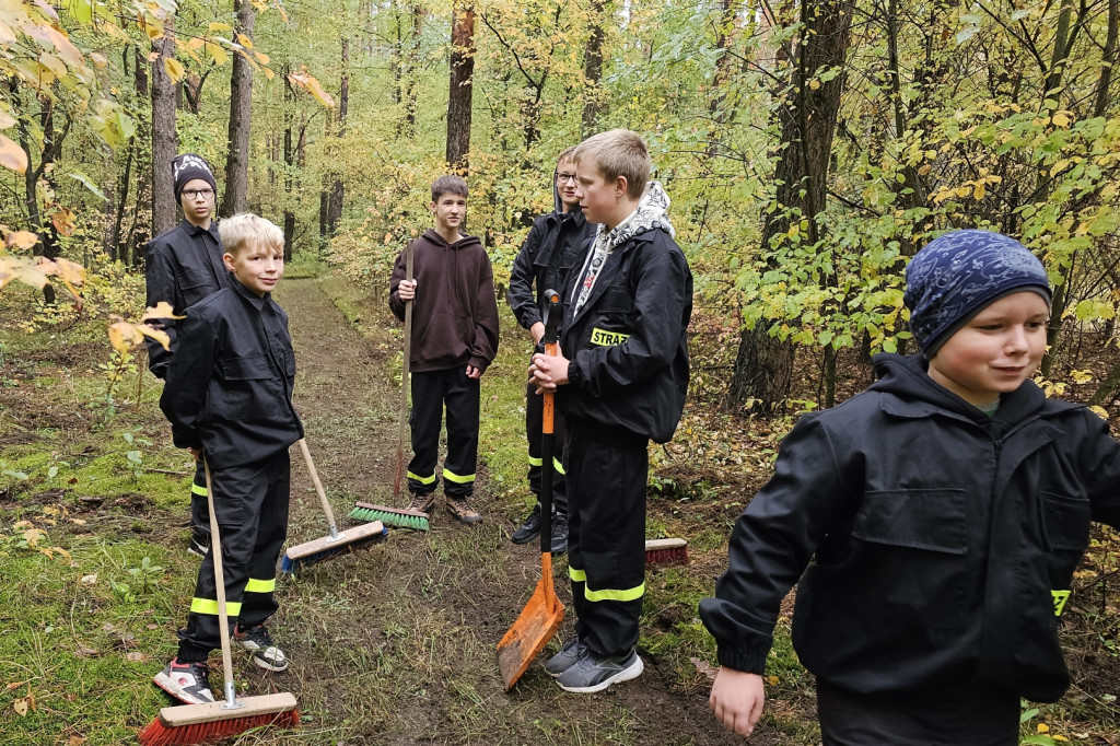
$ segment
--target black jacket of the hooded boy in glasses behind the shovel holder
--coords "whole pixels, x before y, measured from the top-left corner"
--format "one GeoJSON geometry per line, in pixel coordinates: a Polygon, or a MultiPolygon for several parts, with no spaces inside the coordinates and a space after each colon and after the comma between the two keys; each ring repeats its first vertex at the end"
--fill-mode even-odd
{"type": "Polygon", "coordinates": [[[563,288],[569,270],[579,263],[588,241],[595,237],[595,231],[596,224],[588,223],[578,206],[567,213],[551,212],[533,221],[533,227],[510,270],[507,297],[517,324],[528,329],[543,320],[544,291],[563,288]]]}

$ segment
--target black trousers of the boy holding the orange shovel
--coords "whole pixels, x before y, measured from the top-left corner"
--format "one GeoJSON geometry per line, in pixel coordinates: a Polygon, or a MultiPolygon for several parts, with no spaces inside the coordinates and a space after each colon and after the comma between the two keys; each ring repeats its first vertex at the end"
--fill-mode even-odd
{"type": "Polygon", "coordinates": [[[576,634],[599,656],[627,654],[645,593],[648,441],[568,421],[568,575],[576,634]]]}

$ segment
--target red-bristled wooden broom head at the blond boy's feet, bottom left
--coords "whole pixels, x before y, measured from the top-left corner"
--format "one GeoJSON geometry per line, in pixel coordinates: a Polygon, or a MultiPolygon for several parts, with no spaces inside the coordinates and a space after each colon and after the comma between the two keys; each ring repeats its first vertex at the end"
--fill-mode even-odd
{"type": "Polygon", "coordinates": [[[244,697],[244,707],[226,709],[225,700],[205,705],[165,707],[159,717],[139,734],[141,746],[208,744],[231,738],[253,728],[299,725],[299,705],[290,692],[244,697]]]}

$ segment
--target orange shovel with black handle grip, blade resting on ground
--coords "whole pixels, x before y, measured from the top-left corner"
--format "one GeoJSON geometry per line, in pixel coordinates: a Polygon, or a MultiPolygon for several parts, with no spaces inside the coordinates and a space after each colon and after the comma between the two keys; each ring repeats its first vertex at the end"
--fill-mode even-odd
{"type": "MultiPolygon", "coordinates": [[[[560,293],[547,290],[544,297],[544,354],[557,354],[557,327],[560,325],[560,293]]],[[[552,431],[553,393],[545,391],[544,418],[541,428],[541,581],[521,610],[521,616],[497,644],[497,665],[502,681],[510,691],[563,622],[563,604],[552,588],[552,455],[556,433],[552,431]]]]}

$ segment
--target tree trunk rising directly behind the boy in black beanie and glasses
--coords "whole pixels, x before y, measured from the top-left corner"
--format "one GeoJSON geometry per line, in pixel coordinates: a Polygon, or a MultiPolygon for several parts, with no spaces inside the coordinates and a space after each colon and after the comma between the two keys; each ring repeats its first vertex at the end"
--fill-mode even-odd
{"type": "Polygon", "coordinates": [[[164,68],[164,60],[175,56],[175,17],[164,24],[165,36],[152,43],[159,55],[151,71],[151,233],[159,235],[175,227],[175,179],[171,160],[179,149],[175,131],[175,83],[164,68]]]}

